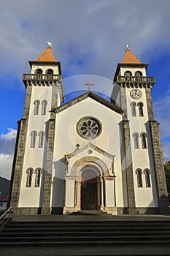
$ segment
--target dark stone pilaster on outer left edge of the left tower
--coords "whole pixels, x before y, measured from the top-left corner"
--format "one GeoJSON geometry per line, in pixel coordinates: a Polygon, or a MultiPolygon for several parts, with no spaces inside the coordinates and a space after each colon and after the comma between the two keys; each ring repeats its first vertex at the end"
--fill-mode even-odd
{"type": "Polygon", "coordinates": [[[20,184],[23,173],[23,159],[26,147],[26,134],[28,128],[28,120],[26,118],[18,121],[18,140],[13,161],[12,169],[12,193],[10,196],[10,206],[18,207],[20,196],[20,184]]]}

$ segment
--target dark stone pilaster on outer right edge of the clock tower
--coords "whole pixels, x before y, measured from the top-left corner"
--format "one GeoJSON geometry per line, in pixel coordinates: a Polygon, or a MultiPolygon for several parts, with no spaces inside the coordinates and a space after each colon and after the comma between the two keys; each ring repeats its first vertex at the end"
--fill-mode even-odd
{"type": "Polygon", "coordinates": [[[169,200],[166,188],[166,177],[163,166],[163,154],[159,124],[157,121],[150,121],[150,132],[152,140],[153,162],[155,167],[155,178],[157,182],[158,204],[161,214],[169,213],[169,200]]]}

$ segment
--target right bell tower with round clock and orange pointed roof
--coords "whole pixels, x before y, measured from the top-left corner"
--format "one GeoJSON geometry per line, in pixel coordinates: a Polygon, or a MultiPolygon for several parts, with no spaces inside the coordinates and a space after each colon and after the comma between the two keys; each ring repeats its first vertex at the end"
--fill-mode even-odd
{"type": "Polygon", "coordinates": [[[150,92],[155,78],[147,76],[147,67],[127,47],[123,61],[117,64],[111,96],[124,111],[128,208],[135,207],[139,214],[147,211],[142,207],[144,195],[152,197],[150,213],[169,211],[159,124],[154,120],[150,92]]]}

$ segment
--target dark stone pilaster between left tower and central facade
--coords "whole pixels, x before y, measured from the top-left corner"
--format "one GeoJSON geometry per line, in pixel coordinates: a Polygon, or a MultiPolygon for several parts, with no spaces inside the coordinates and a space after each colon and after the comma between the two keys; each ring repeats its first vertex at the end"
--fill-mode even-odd
{"type": "Polygon", "coordinates": [[[49,215],[50,199],[51,199],[51,185],[52,185],[52,171],[53,171],[53,148],[55,136],[55,118],[48,121],[48,136],[47,136],[47,159],[45,167],[45,181],[42,201],[42,215],[49,215]]]}

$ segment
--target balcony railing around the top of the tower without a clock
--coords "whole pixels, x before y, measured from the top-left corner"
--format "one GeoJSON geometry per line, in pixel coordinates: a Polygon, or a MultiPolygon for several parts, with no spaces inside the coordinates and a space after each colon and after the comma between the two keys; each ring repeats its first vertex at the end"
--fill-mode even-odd
{"type": "Polygon", "coordinates": [[[41,80],[60,80],[62,78],[61,75],[51,75],[51,74],[23,74],[23,81],[26,80],[34,80],[34,81],[41,81],[41,80]]]}

